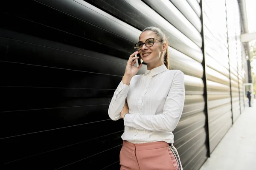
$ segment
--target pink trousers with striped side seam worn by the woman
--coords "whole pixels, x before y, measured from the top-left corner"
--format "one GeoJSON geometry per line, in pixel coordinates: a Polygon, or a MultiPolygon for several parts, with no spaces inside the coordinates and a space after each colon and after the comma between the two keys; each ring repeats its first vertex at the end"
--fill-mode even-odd
{"type": "MultiPolygon", "coordinates": [[[[163,141],[132,144],[123,141],[120,170],[179,170],[177,150],[163,141]]],[[[182,166],[180,164],[180,170],[182,166]]]]}

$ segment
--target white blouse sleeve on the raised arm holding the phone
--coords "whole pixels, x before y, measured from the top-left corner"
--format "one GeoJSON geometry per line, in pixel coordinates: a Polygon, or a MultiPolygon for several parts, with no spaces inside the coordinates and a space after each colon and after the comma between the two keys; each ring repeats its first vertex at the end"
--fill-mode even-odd
{"type": "Polygon", "coordinates": [[[121,81],[114,92],[114,95],[111,99],[109,108],[108,108],[108,116],[112,120],[118,120],[121,118],[120,112],[125,105],[125,99],[127,93],[129,91],[129,86],[123,84],[121,81]]]}

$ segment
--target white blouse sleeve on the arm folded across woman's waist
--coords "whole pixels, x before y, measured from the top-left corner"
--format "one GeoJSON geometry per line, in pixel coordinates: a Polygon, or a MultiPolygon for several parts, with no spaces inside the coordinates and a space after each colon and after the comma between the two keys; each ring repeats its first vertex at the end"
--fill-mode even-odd
{"type": "Polygon", "coordinates": [[[163,113],[156,115],[128,114],[125,116],[124,125],[139,130],[172,132],[180,120],[184,100],[184,74],[177,71],[166,97],[163,113]]]}

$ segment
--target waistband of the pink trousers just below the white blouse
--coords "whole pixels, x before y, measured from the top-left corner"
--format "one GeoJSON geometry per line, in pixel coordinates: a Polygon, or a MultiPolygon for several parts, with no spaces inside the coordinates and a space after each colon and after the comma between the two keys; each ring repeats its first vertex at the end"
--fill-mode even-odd
{"type": "Polygon", "coordinates": [[[151,149],[157,149],[162,147],[168,147],[169,144],[164,141],[142,143],[142,144],[133,144],[128,141],[123,141],[123,146],[127,147],[130,150],[135,151],[135,150],[151,150],[151,149]]]}

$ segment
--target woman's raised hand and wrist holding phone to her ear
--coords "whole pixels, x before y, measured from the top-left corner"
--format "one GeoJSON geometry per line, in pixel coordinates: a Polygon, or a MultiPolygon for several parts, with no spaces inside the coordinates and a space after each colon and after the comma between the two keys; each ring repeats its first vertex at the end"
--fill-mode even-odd
{"type": "Polygon", "coordinates": [[[134,67],[136,59],[140,58],[134,57],[135,54],[139,54],[139,52],[135,51],[133,54],[131,54],[126,64],[125,75],[122,79],[123,83],[126,85],[130,84],[131,78],[134,77],[142,67],[142,64],[140,64],[139,67],[134,67]]]}

